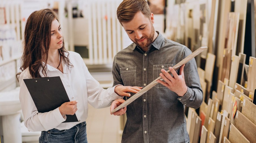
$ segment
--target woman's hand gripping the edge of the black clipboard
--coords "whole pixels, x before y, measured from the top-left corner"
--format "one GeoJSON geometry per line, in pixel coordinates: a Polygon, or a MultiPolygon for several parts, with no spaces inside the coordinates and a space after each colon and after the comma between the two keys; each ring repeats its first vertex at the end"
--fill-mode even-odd
{"type": "Polygon", "coordinates": [[[78,101],[70,101],[63,103],[60,107],[60,114],[61,115],[74,115],[77,111],[77,102],[78,101]]]}

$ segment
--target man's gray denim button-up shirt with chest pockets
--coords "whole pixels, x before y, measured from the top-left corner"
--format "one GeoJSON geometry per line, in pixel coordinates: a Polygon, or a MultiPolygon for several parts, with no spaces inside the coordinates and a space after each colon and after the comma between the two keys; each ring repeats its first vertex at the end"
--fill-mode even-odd
{"type": "MultiPolygon", "coordinates": [[[[186,46],[168,40],[160,33],[147,52],[133,43],[114,58],[114,85],[145,87],[159,77],[161,69],[168,70],[191,53],[186,46]]],[[[176,72],[179,74],[179,70],[176,72]]],[[[185,64],[184,75],[188,90],[183,97],[158,83],[127,106],[123,143],[189,142],[184,105],[199,108],[203,101],[194,58],[185,64]]]]}

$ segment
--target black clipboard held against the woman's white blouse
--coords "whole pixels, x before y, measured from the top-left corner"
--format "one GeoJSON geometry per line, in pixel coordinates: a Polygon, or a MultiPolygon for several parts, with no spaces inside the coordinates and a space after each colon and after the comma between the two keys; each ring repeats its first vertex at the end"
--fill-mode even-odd
{"type": "MultiPolygon", "coordinates": [[[[59,76],[24,79],[24,82],[39,113],[52,111],[70,101],[59,76]]],[[[64,122],[78,122],[75,114],[66,116],[64,122]]]]}

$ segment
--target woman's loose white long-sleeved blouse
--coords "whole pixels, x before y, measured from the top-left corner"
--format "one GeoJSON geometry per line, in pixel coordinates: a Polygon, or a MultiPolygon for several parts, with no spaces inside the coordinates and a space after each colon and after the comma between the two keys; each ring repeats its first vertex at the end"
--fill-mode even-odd
{"type": "MultiPolygon", "coordinates": [[[[31,78],[29,70],[25,69],[19,77],[19,100],[25,120],[24,124],[29,131],[47,131],[53,128],[58,130],[70,129],[86,120],[88,116],[88,103],[94,108],[105,108],[110,106],[115,99],[122,98],[114,92],[115,87],[108,89],[100,87],[99,82],[89,73],[78,53],[69,51],[69,60],[74,67],[68,69],[67,65],[62,63],[64,74],[48,64],[46,74],[49,77],[60,76],[70,101],[78,101],[75,114],[79,122],[62,123],[66,120],[66,116],[62,117],[59,108],[45,113],[38,113],[23,81],[23,79],[31,78]]],[[[42,74],[42,69],[40,74],[42,77],[45,77],[42,74]]],[[[45,106],[47,106],[47,103],[45,103],[45,106]]]]}

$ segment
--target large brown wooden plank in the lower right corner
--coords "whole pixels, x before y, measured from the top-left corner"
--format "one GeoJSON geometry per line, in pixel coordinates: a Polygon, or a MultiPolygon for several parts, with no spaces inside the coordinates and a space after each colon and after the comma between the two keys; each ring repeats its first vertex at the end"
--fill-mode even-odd
{"type": "Polygon", "coordinates": [[[237,111],[234,119],[234,126],[248,139],[250,142],[256,143],[256,125],[246,118],[240,111],[237,111]]]}

